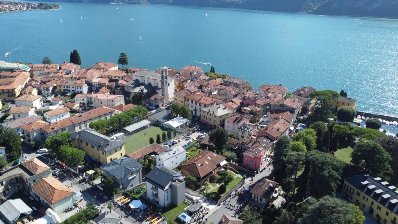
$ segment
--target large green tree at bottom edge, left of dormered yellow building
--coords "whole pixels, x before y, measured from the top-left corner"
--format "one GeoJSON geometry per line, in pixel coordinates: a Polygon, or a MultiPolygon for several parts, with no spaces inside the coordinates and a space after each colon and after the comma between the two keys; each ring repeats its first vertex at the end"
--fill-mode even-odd
{"type": "Polygon", "coordinates": [[[365,220],[358,206],[339,198],[310,198],[309,203],[309,211],[298,219],[298,224],[362,224],[365,220]]]}

